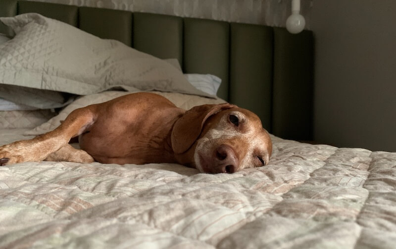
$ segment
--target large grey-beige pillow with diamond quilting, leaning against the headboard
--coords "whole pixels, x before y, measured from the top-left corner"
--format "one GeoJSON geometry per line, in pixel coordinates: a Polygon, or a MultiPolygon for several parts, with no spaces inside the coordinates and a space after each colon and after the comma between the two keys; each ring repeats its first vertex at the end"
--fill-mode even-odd
{"type": "Polygon", "coordinates": [[[37,13],[0,20],[16,33],[0,45],[2,84],[78,95],[122,88],[212,97],[168,62],[121,42],[100,39],[37,13]]]}

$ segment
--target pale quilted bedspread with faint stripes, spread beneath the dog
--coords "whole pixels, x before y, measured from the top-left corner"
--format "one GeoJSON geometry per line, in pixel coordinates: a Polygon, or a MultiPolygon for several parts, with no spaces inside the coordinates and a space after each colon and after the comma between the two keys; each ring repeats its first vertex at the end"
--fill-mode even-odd
{"type": "Polygon", "coordinates": [[[0,167],[0,248],[395,248],[396,153],[272,137],[265,167],[0,167]]]}

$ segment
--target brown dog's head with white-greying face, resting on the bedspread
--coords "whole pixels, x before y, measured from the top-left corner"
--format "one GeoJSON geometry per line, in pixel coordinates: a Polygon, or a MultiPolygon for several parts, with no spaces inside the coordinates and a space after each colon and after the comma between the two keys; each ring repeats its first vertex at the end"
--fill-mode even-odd
{"type": "Polygon", "coordinates": [[[202,105],[188,110],[172,129],[176,154],[189,154],[186,164],[205,173],[234,173],[264,166],[272,142],[254,113],[235,105],[202,105]]]}

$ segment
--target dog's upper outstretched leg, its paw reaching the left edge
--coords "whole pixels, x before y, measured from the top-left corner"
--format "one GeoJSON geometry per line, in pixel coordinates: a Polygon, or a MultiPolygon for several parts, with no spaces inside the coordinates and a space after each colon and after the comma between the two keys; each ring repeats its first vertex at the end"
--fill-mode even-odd
{"type": "Polygon", "coordinates": [[[95,106],[74,110],[56,129],[30,140],[16,141],[0,147],[0,166],[5,164],[42,161],[49,154],[80,135],[95,120],[95,106]]]}

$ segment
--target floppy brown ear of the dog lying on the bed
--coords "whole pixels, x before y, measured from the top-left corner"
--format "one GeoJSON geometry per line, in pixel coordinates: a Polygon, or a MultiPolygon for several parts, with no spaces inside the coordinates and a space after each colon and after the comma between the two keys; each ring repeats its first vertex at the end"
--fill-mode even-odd
{"type": "Polygon", "coordinates": [[[173,126],[171,141],[172,149],[176,154],[186,152],[197,140],[203,124],[212,115],[235,107],[225,103],[218,105],[201,105],[191,108],[178,119],[173,126]]]}

